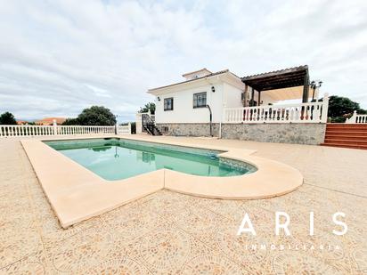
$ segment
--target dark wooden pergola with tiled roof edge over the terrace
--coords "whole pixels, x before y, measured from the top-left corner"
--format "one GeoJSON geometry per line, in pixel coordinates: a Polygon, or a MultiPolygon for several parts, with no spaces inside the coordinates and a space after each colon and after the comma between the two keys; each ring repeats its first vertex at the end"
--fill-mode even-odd
{"type": "Polygon", "coordinates": [[[287,99],[299,98],[302,96],[302,102],[308,101],[310,79],[307,65],[242,77],[241,80],[245,84],[245,99],[247,98],[247,93],[249,93],[249,87],[251,88],[250,106],[253,106],[255,103],[255,90],[258,92],[257,104],[261,102],[261,93],[265,93],[265,91],[273,93],[273,96],[276,96],[277,93],[288,93],[289,98],[287,99]],[[298,87],[298,89],[296,89],[296,87],[298,87]]]}

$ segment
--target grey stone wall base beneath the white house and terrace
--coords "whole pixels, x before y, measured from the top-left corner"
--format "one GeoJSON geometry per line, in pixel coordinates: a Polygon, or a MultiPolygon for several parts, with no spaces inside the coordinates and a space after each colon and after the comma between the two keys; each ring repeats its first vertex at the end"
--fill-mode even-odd
{"type": "MultiPolygon", "coordinates": [[[[165,135],[209,136],[209,124],[157,124],[165,135]],[[167,127],[167,131],[165,130],[167,127]]],[[[280,142],[318,145],[324,141],[325,124],[222,124],[222,138],[255,142],[280,142]]],[[[219,124],[213,124],[219,136],[219,124]]]]}

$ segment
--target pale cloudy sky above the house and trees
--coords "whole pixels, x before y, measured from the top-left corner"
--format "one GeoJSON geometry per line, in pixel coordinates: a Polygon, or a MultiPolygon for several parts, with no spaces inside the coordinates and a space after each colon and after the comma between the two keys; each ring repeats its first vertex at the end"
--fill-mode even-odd
{"type": "Polygon", "coordinates": [[[0,113],[118,121],[196,69],[308,65],[321,93],[367,109],[367,1],[0,0],[0,113]]]}

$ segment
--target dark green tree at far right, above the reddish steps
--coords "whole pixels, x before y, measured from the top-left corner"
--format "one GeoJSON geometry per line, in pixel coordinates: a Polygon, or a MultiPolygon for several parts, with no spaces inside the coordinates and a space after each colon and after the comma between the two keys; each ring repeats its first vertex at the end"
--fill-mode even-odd
{"type": "Polygon", "coordinates": [[[347,97],[330,96],[328,117],[331,118],[331,122],[345,122],[347,117],[351,117],[355,110],[360,114],[366,112],[360,108],[359,103],[351,101],[347,97]]]}

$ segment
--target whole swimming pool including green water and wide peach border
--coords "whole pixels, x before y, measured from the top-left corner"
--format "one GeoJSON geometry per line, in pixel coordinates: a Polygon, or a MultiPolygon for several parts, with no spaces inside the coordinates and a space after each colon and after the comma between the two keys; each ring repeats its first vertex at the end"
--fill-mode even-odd
{"type": "Polygon", "coordinates": [[[303,183],[297,169],[252,156],[254,150],[172,140],[129,135],[20,142],[63,228],[159,190],[254,199],[281,196],[303,183]]]}

